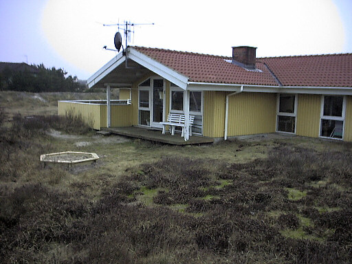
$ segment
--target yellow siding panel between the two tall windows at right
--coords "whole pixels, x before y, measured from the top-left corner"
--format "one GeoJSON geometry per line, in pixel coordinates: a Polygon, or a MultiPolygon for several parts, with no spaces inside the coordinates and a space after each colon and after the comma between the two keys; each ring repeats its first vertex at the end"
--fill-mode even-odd
{"type": "Polygon", "coordinates": [[[316,94],[298,95],[296,135],[319,137],[321,98],[316,94]]]}

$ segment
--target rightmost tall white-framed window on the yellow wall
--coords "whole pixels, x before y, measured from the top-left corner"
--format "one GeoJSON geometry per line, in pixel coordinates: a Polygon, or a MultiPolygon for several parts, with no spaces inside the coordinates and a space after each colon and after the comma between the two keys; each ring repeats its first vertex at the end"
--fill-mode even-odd
{"type": "Polygon", "coordinates": [[[322,96],[320,137],[343,138],[345,105],[344,96],[322,96]]]}

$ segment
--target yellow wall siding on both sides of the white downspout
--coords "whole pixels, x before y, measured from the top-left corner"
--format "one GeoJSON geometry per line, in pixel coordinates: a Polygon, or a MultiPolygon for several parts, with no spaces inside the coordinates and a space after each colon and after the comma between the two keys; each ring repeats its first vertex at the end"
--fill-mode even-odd
{"type": "MultiPolygon", "coordinates": [[[[204,92],[203,135],[223,137],[226,94],[204,92]]],[[[273,133],[275,128],[276,94],[241,93],[229,97],[228,136],[273,133]]]]}

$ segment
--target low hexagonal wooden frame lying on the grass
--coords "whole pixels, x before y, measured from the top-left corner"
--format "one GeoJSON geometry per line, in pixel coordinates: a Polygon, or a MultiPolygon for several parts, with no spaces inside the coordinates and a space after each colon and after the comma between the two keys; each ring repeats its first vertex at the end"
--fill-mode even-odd
{"type": "Polygon", "coordinates": [[[99,159],[96,153],[65,151],[41,155],[41,162],[77,164],[81,162],[96,161],[99,159]]]}

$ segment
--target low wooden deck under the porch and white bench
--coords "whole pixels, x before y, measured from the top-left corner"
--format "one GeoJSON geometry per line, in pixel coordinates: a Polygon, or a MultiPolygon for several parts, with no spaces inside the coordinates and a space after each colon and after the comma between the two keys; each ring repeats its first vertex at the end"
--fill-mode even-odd
{"type": "Polygon", "coordinates": [[[178,146],[214,143],[214,139],[212,137],[192,135],[188,141],[184,141],[184,137],[181,137],[181,134],[179,133],[175,133],[175,135],[171,135],[170,133],[162,134],[161,130],[145,129],[139,126],[111,127],[109,129],[102,129],[102,131],[109,131],[110,133],[116,135],[124,135],[126,137],[135,137],[142,140],[150,140],[153,142],[178,146]]]}

